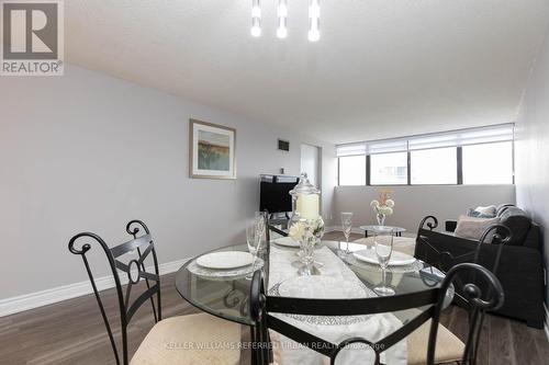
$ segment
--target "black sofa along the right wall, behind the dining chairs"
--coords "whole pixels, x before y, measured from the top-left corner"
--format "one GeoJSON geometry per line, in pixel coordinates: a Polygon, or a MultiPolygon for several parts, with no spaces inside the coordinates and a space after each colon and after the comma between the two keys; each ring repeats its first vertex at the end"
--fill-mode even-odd
{"type": "MultiPolygon", "coordinates": [[[[495,273],[505,293],[505,303],[495,313],[524,320],[529,327],[541,329],[545,319],[541,230],[524,210],[515,206],[502,205],[496,212],[500,224],[507,227],[512,235],[501,249],[500,265],[495,273]]],[[[442,266],[447,267],[439,267],[444,271],[459,263],[448,258],[467,258],[464,261],[472,262],[471,253],[479,242],[456,237],[452,232],[436,231],[437,226],[435,217],[422,221],[415,256],[437,266],[446,261],[442,266]],[[434,255],[433,249],[442,253],[446,260],[434,255]]],[[[455,228],[455,224],[447,223],[446,228],[449,227],[455,228]]],[[[478,263],[492,269],[501,247],[498,243],[497,237],[493,243],[482,243],[478,263]]]]}

